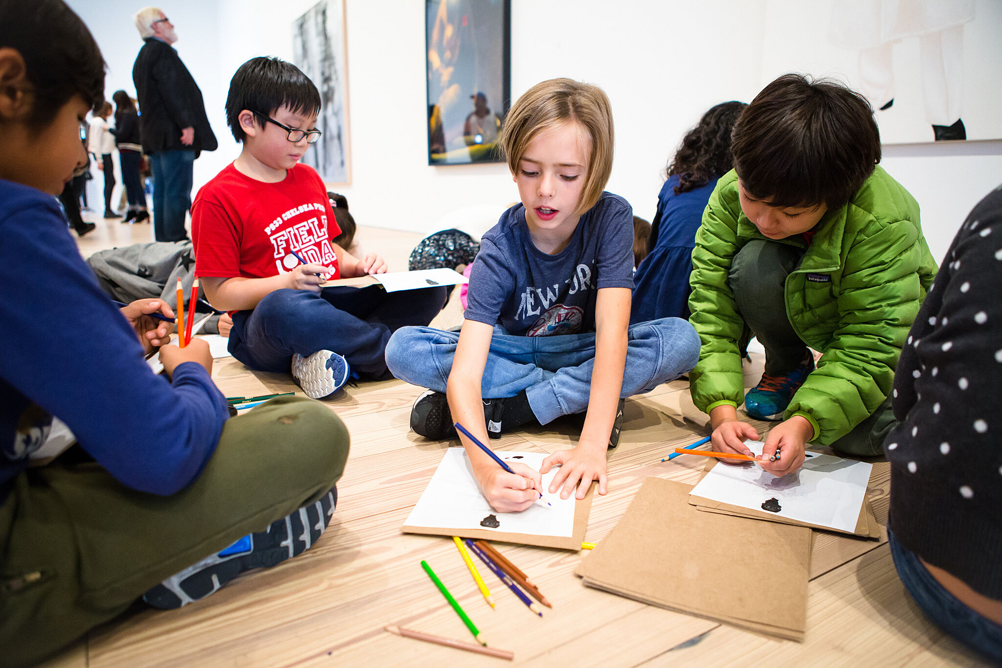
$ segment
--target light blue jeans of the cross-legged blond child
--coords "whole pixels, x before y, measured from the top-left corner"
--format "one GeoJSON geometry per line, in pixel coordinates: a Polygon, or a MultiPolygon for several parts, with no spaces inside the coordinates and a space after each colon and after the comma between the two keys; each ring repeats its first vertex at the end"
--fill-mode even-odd
{"type": "MultiPolygon", "coordinates": [[[[699,337],[688,322],[663,317],[629,327],[620,397],[650,392],[689,372],[699,359],[699,337]]],[[[386,364],[397,378],[445,392],[459,333],[403,327],[386,347],[386,364]]],[[[583,413],[591,392],[595,335],[513,337],[494,330],[480,385],[483,397],[514,397],[522,390],[541,425],[583,413]]]]}

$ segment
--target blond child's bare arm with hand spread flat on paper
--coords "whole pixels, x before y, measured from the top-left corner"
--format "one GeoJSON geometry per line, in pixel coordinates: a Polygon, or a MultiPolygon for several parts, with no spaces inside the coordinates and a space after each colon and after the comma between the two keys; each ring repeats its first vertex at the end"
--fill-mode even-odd
{"type": "Polygon", "coordinates": [[[626,287],[603,287],[595,297],[595,364],[581,438],[573,450],[547,457],[541,468],[546,473],[550,467],[560,465],[550,483],[550,493],[563,485],[560,491],[563,499],[571,495],[575,486],[576,497],[583,499],[593,480],[598,481],[599,494],[608,490],[605,456],[626,367],[630,295],[626,287]]]}

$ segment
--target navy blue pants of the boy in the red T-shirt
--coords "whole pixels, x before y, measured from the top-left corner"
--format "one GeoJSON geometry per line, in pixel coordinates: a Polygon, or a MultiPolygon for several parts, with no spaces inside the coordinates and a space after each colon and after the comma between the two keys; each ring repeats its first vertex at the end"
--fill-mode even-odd
{"type": "Polygon", "coordinates": [[[318,351],[343,356],[353,372],[389,378],[386,368],[390,335],[408,324],[428,324],[445,304],[445,287],[387,292],[370,287],[278,289],[254,310],[233,315],[229,352],[250,369],[288,372],[293,354],[318,351]]]}

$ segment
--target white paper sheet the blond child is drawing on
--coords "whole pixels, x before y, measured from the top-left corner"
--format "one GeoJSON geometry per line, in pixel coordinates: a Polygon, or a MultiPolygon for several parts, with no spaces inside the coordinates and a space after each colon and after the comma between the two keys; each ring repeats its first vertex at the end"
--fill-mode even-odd
{"type": "MultiPolygon", "coordinates": [[[[506,462],[521,462],[536,471],[547,457],[544,453],[501,451],[496,451],[495,455],[506,462]]],[[[488,529],[533,536],[573,536],[574,496],[561,499],[559,491],[556,494],[548,492],[550,481],[558,470],[552,469],[543,476],[543,499],[552,506],[537,501],[521,513],[498,513],[480,492],[466,451],[450,448],[405,524],[435,529],[488,529]],[[493,515],[500,526],[481,525],[489,515],[493,515]]]]}

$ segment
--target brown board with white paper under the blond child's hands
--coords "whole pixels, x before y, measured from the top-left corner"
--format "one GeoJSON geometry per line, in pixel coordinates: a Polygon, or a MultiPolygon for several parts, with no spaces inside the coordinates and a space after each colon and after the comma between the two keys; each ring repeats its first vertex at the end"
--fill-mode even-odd
{"type": "MultiPolygon", "coordinates": [[[[546,453],[502,451],[495,455],[537,471],[548,457],[546,453]]],[[[591,511],[592,490],[581,501],[573,496],[561,499],[559,491],[550,494],[549,484],[558,470],[551,469],[543,476],[542,500],[520,513],[498,513],[481,493],[466,451],[449,448],[402,531],[579,550],[591,511]]]]}

